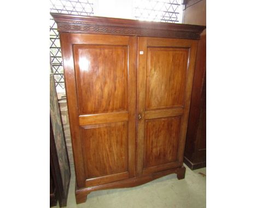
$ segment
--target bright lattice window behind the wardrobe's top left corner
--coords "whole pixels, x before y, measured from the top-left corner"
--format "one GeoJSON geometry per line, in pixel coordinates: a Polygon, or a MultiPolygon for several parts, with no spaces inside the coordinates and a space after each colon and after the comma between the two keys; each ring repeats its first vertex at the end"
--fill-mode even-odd
{"type": "MultiPolygon", "coordinates": [[[[93,0],[50,0],[51,13],[93,16],[93,0]]],[[[65,81],[57,24],[50,16],[50,57],[57,92],[65,92],[65,81]]]]}

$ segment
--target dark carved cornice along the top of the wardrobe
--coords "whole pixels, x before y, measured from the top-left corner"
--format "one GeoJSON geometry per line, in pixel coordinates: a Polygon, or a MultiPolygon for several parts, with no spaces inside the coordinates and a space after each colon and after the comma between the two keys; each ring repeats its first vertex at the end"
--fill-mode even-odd
{"type": "Polygon", "coordinates": [[[137,35],[200,39],[206,26],[51,13],[60,33],[137,35]]]}

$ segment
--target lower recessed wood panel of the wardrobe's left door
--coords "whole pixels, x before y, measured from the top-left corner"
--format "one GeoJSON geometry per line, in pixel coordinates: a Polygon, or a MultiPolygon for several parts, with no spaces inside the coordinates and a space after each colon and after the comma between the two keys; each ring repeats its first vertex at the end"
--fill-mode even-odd
{"type": "Polygon", "coordinates": [[[128,171],[127,122],[91,126],[82,130],[86,178],[128,171]]]}

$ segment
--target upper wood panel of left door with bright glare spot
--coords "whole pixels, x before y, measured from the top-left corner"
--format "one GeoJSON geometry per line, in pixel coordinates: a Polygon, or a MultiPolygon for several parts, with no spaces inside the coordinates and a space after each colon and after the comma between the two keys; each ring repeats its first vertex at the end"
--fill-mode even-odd
{"type": "Polygon", "coordinates": [[[74,45],[73,50],[79,113],[127,111],[127,46],[74,45]]]}

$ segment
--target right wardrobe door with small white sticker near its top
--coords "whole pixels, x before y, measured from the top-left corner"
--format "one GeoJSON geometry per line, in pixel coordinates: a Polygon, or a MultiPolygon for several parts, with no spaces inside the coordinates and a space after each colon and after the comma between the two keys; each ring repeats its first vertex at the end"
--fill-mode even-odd
{"type": "Polygon", "coordinates": [[[139,175],[183,164],[197,40],[139,38],[139,175]]]}

